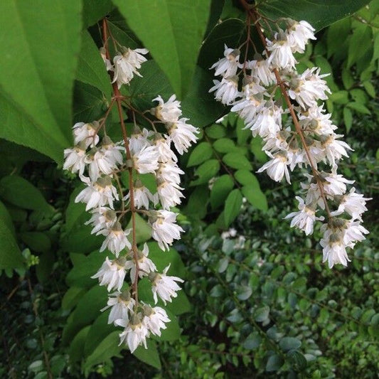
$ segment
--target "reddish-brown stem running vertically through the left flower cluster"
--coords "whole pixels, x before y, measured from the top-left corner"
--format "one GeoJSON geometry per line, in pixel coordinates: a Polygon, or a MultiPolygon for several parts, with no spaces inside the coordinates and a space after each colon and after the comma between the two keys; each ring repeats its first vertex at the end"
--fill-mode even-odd
{"type": "MultiPolygon", "coordinates": [[[[107,18],[103,18],[102,20],[102,39],[104,41],[105,48],[105,56],[107,59],[110,59],[110,51],[107,44],[107,36],[108,36],[108,26],[107,26],[107,18]]],[[[112,78],[112,73],[110,73],[112,78]]],[[[122,100],[124,100],[124,96],[119,92],[119,88],[117,87],[117,82],[112,83],[113,93],[114,93],[114,101],[117,103],[117,110],[119,113],[119,122],[121,124],[122,129],[122,138],[124,140],[125,151],[127,154],[127,160],[132,161],[132,154],[129,149],[129,140],[127,137],[127,128],[124,124],[124,116],[122,114],[122,100]]],[[[136,275],[134,277],[134,283],[132,284],[132,292],[134,296],[134,300],[136,301],[136,306],[138,306],[138,274],[139,274],[139,265],[138,265],[138,248],[137,248],[137,237],[136,237],[136,208],[134,206],[134,188],[133,188],[133,168],[128,167],[129,171],[129,196],[130,196],[130,212],[132,213],[132,252],[134,258],[134,265],[136,265],[136,275]]]]}

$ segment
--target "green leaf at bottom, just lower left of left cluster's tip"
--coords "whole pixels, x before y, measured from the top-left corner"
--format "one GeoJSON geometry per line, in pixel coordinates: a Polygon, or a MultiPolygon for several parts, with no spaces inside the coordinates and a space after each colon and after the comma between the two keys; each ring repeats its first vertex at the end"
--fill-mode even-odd
{"type": "MultiPolygon", "coordinates": [[[[122,346],[119,346],[119,331],[114,331],[106,336],[95,348],[95,351],[85,359],[84,370],[88,375],[90,369],[99,363],[105,363],[114,356],[120,356],[122,346]]],[[[87,376],[86,375],[86,376],[87,376]]]]}

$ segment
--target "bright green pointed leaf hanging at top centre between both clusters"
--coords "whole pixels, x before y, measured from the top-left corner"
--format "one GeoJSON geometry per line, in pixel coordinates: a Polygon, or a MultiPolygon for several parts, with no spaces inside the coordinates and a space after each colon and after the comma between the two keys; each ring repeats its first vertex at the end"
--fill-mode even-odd
{"type": "Polygon", "coordinates": [[[128,25],[164,70],[179,98],[191,85],[210,0],[114,0],[128,25]]]}

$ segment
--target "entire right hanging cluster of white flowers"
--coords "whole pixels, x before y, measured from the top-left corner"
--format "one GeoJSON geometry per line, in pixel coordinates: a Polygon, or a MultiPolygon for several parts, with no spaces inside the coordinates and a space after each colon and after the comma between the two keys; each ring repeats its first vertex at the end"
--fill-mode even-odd
{"type": "MultiPolygon", "coordinates": [[[[261,33],[265,51],[255,53],[253,60],[241,62],[240,50],[225,46],[225,58],[211,67],[221,79],[213,81],[210,92],[215,92],[216,100],[230,105],[231,112],[237,112],[254,137],[262,137],[269,161],[257,172],[266,171],[274,181],[285,177],[290,183],[290,171],[295,167],[311,169],[311,175],[306,174],[301,183],[304,198],[297,196],[299,210],[286,218],[306,235],[313,233],[316,220],[326,220],[321,226],[323,261],[327,260],[329,267],[337,263],[346,266],[346,248],[354,247],[368,233],[361,225],[361,215],[370,199],[356,193],[355,188],[347,191],[346,184],[353,181],[337,174],[338,161],[348,156],[351,147],[341,141],[342,134],[335,133],[331,114],[319,102],[331,93],[324,80],[328,74],[320,75],[316,67],[303,73],[296,69],[294,53],[304,53],[309,39],[316,39],[314,28],[306,21],[285,22],[287,27],[274,33],[272,40],[261,33]],[[287,100],[287,107],[277,101],[278,92],[287,100]],[[291,113],[293,129],[283,124],[284,113],[291,113]]],[[[259,22],[257,28],[262,32],[259,22]]]]}

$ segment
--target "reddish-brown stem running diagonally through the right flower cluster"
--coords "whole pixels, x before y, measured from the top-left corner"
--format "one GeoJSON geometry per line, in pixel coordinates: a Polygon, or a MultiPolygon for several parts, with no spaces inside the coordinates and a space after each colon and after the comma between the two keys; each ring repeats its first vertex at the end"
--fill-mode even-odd
{"type": "MultiPolygon", "coordinates": [[[[266,38],[265,38],[265,35],[263,34],[262,26],[260,24],[260,14],[257,13],[257,10],[255,8],[251,8],[249,6],[249,4],[246,3],[245,0],[240,0],[240,2],[242,4],[242,6],[245,8],[245,10],[247,11],[247,17],[252,18],[252,21],[254,22],[254,24],[257,28],[258,35],[260,36],[260,40],[262,41],[262,44],[265,47],[265,50],[267,53],[267,58],[268,58],[269,57],[269,51],[267,50],[266,38]]],[[[303,145],[303,148],[304,148],[304,151],[306,154],[306,158],[308,159],[309,165],[311,166],[312,174],[316,180],[317,186],[319,186],[320,196],[321,196],[322,200],[324,201],[326,213],[328,215],[328,218],[331,218],[331,212],[329,210],[328,201],[326,200],[326,195],[324,192],[324,185],[321,182],[321,178],[319,176],[319,171],[317,170],[317,167],[314,165],[314,162],[312,160],[311,152],[309,151],[308,146],[306,145],[304,133],[303,133],[301,126],[299,124],[299,119],[297,119],[297,115],[294,111],[294,107],[292,105],[292,102],[289,99],[289,95],[287,93],[286,85],[284,84],[282,78],[280,78],[280,75],[279,75],[277,68],[274,68],[273,71],[274,71],[275,78],[277,79],[277,85],[279,85],[279,87],[280,87],[280,90],[282,92],[284,100],[285,100],[287,107],[289,109],[289,113],[291,114],[296,132],[297,132],[297,134],[299,134],[301,144],[303,145]]]]}

